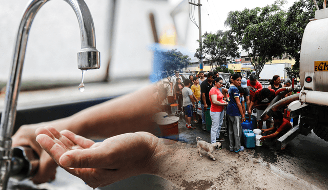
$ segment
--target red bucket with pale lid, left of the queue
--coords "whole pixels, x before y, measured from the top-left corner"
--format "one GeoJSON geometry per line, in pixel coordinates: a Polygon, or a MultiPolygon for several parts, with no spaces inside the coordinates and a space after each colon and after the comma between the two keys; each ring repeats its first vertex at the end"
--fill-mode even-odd
{"type": "Polygon", "coordinates": [[[159,126],[162,138],[179,140],[179,117],[165,117],[156,122],[159,126]]]}

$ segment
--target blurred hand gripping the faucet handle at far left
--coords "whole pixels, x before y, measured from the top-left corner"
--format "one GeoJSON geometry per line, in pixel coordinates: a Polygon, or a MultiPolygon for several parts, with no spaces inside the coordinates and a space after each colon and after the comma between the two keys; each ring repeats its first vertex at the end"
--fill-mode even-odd
{"type": "Polygon", "coordinates": [[[46,151],[35,141],[35,130],[40,125],[23,125],[12,136],[12,147],[30,146],[39,156],[39,168],[35,176],[31,178],[33,183],[40,184],[54,180],[56,177],[56,162],[47,154],[46,151]]]}

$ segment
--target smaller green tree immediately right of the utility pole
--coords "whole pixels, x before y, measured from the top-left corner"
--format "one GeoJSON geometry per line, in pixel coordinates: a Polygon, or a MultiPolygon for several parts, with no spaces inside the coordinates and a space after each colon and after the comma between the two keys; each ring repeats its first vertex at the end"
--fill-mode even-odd
{"type": "MultiPolygon", "coordinates": [[[[197,41],[199,43],[199,40],[197,41]]],[[[230,30],[225,32],[218,30],[216,33],[205,32],[202,35],[202,41],[203,55],[200,57],[198,48],[195,57],[209,60],[212,71],[220,65],[228,64],[229,58],[239,57],[235,36],[230,30]]]]}

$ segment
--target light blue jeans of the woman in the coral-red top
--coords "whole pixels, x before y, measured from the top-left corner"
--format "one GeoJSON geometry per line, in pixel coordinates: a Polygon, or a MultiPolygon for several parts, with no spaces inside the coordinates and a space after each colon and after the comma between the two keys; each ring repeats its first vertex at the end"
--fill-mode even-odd
{"type": "Polygon", "coordinates": [[[212,120],[212,127],[211,127],[211,143],[215,143],[216,139],[219,138],[221,126],[223,124],[223,115],[224,112],[211,112],[211,120],[212,120]]]}

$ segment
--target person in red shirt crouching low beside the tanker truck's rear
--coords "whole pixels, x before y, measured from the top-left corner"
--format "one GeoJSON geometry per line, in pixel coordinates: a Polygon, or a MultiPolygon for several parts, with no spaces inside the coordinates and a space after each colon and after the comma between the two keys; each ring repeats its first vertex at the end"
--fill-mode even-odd
{"type": "Polygon", "coordinates": [[[275,138],[279,134],[279,136],[282,136],[282,134],[285,134],[290,129],[292,129],[292,124],[287,119],[282,117],[281,112],[276,112],[275,116],[273,116],[273,120],[275,121],[275,126],[273,126],[270,129],[262,129],[262,133],[269,132],[276,130],[274,133],[271,133],[270,135],[266,135],[260,138],[260,140],[268,139],[268,138],[275,138]]]}

